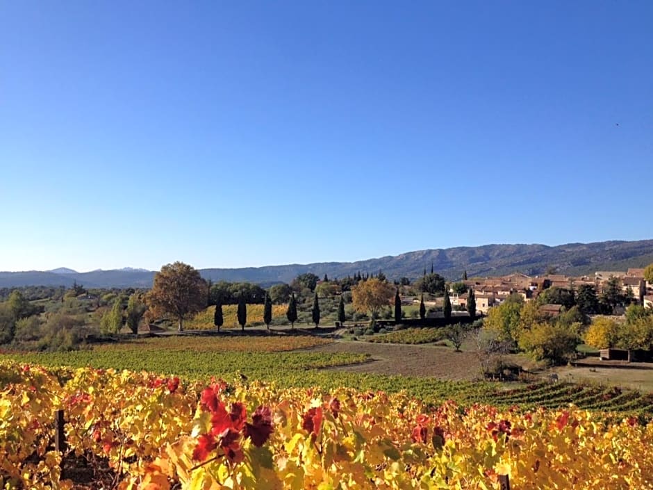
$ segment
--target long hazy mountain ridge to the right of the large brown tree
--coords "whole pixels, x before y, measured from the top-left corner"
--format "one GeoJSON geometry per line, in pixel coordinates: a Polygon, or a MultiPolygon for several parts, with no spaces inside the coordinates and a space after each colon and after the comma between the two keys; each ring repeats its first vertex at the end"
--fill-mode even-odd
{"type": "Polygon", "coordinates": [[[290,282],[297,275],[313,272],[318,277],[345,277],[355,272],[379,272],[392,279],[421,277],[424,268],[447,279],[460,279],[463,271],[468,277],[506,275],[524,272],[542,275],[555,267],[559,273],[570,275],[593,274],[597,270],[626,270],[653,263],[653,240],[636,242],[609,241],[597,243],[569,243],[547,245],[482,245],[436,250],[406,252],[358,262],[324,262],[307,265],[268,266],[241,269],[204,269],[203,277],[213,281],[251,281],[260,283],[290,282]]]}

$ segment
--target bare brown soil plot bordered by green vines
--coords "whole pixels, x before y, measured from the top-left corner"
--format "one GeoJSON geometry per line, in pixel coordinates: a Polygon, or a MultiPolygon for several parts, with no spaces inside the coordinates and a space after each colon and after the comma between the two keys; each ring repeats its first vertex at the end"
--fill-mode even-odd
{"type": "Polygon", "coordinates": [[[370,354],[372,361],[356,366],[333,368],[356,373],[434,376],[440,379],[471,380],[479,375],[479,360],[472,352],[454,352],[436,345],[399,345],[340,341],[321,345],[319,352],[370,354]]]}

